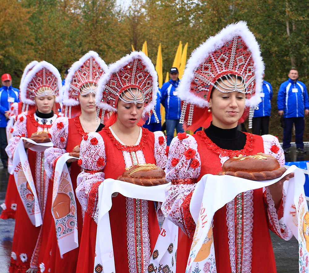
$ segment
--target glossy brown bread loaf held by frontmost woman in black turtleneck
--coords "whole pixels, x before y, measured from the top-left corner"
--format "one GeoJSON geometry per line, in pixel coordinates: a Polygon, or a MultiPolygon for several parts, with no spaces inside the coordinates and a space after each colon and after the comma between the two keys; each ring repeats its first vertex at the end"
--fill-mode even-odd
{"type": "Polygon", "coordinates": [[[218,175],[232,175],[249,180],[266,180],[280,177],[286,171],[277,159],[269,154],[232,157],[222,166],[218,175]]]}

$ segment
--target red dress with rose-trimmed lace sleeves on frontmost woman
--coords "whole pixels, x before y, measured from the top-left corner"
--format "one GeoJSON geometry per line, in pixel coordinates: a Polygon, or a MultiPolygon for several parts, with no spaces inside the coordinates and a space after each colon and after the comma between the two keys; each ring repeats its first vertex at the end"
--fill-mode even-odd
{"type": "MultiPolygon", "coordinates": [[[[204,174],[217,174],[228,158],[239,154],[266,153],[277,158],[281,166],[284,165],[284,153],[275,136],[250,133],[245,133],[245,136],[242,150],[221,149],[204,131],[195,135],[180,134],[171,142],[166,177],[172,185],[167,191],[162,211],[188,236],[188,246],[192,244],[196,227],[189,209],[190,200],[197,181],[204,174]]],[[[225,139],[222,136],[218,138],[225,139]]],[[[280,208],[276,210],[269,189],[260,188],[237,195],[215,213],[213,236],[216,272],[276,272],[269,229],[286,240],[292,236],[283,223],[284,199],[285,195],[280,208]]],[[[179,273],[185,272],[189,250],[178,245],[183,257],[181,261],[177,260],[179,273]]],[[[212,273],[215,269],[210,265],[211,261],[198,264],[198,270],[212,273]]]]}

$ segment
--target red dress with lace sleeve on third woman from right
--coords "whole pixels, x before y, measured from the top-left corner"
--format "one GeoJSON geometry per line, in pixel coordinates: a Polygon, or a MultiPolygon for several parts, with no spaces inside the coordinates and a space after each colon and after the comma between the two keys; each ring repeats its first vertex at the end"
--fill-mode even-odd
{"type": "MultiPolygon", "coordinates": [[[[103,124],[99,126],[98,131],[102,128],[103,124]]],[[[54,171],[58,158],[64,153],[71,152],[75,146],[79,146],[83,136],[86,136],[87,133],[84,132],[78,115],[72,119],[59,117],[50,129],[50,135],[54,147],[45,150],[45,166],[46,173],[51,178],[49,183],[53,185],[54,171]]],[[[77,161],[70,164],[69,170],[73,191],[75,192],[76,179],[81,172],[77,161]]],[[[63,254],[63,258],[61,258],[57,244],[55,222],[51,214],[52,195],[53,188],[51,187],[48,192],[46,205],[46,209],[49,210],[49,219],[45,217],[42,227],[43,241],[39,256],[39,267],[41,272],[75,272],[79,247],[63,254]]],[[[76,197],[75,200],[77,201],[76,197]]],[[[83,229],[83,213],[78,201],[76,202],[76,206],[79,243],[83,229]]]]}

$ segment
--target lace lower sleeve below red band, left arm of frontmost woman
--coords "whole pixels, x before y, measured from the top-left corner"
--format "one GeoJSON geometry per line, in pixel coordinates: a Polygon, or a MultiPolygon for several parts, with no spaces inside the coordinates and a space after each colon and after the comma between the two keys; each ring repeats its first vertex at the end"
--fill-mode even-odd
{"type": "Polygon", "coordinates": [[[192,233],[192,223],[194,223],[189,209],[194,189],[195,184],[171,185],[165,192],[166,199],[161,206],[165,217],[179,226],[188,236],[192,233]]]}

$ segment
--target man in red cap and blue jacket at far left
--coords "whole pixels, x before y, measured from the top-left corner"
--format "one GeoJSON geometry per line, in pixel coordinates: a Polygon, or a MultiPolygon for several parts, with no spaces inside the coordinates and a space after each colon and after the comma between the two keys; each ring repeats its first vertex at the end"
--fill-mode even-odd
{"type": "Polygon", "coordinates": [[[9,107],[11,103],[19,102],[19,90],[12,87],[12,78],[10,74],[3,74],[1,77],[2,87],[0,88],[0,156],[4,168],[7,168],[7,154],[5,147],[6,124],[9,119],[9,107]]]}

